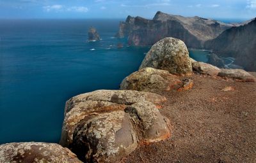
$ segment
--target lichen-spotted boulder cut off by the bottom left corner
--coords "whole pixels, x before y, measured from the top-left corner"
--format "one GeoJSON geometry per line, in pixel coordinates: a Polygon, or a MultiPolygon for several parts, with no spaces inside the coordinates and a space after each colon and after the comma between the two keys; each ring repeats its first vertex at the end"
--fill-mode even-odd
{"type": "Polygon", "coordinates": [[[0,145],[0,162],[81,163],[68,148],[54,143],[8,143],[0,145]]]}

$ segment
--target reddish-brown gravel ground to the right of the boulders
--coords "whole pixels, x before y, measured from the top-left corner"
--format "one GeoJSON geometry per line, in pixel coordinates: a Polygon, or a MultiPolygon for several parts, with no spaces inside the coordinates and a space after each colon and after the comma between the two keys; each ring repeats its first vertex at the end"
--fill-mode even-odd
{"type": "Polygon", "coordinates": [[[256,83],[189,78],[193,89],[161,93],[171,138],[140,146],[125,162],[256,162],[256,83]]]}

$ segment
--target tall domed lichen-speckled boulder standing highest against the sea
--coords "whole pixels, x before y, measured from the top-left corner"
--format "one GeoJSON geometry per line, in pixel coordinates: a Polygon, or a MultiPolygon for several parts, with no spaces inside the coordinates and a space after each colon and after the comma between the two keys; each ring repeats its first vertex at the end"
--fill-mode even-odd
{"type": "Polygon", "coordinates": [[[154,44],[141,63],[140,69],[145,67],[163,69],[181,76],[193,73],[185,43],[175,38],[164,38],[154,44]]]}

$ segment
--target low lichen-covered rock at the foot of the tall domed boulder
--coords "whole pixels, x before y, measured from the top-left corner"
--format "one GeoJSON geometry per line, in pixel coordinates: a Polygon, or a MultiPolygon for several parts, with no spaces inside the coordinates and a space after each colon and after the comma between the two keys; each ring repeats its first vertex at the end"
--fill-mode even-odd
{"type": "Polygon", "coordinates": [[[121,90],[146,92],[179,89],[181,81],[168,71],[146,67],[127,76],[121,83],[121,90]]]}

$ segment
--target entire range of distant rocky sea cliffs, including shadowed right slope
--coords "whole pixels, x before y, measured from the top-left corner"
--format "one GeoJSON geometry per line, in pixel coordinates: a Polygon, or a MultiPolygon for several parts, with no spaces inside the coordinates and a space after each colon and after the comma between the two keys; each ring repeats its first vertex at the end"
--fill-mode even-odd
{"type": "MultiPolygon", "coordinates": [[[[227,24],[201,17],[182,17],[157,11],[152,20],[128,16],[120,22],[117,38],[127,37],[129,45],[154,45],[173,37],[188,48],[207,49],[218,57],[234,57],[234,64],[256,71],[256,20],[227,24]]],[[[221,61],[223,62],[223,61],[221,61]]]]}

